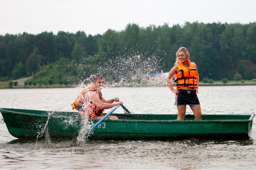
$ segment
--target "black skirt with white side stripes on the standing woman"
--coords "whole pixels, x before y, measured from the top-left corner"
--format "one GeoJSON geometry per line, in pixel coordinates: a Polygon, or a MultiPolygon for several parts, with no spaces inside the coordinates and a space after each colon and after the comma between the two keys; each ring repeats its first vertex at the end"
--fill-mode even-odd
{"type": "Polygon", "coordinates": [[[175,95],[174,105],[200,105],[196,90],[183,90],[178,89],[179,93],[175,95]]]}

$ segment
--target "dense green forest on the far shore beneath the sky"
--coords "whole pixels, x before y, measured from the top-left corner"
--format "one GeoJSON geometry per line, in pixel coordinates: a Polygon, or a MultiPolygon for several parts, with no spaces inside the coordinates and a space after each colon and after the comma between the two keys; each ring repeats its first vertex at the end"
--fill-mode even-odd
{"type": "Polygon", "coordinates": [[[34,75],[45,82],[78,84],[100,72],[108,82],[137,82],[168,72],[186,47],[200,80],[256,78],[256,23],[128,24],[103,35],[59,31],[0,35],[0,81],[34,75]]]}

